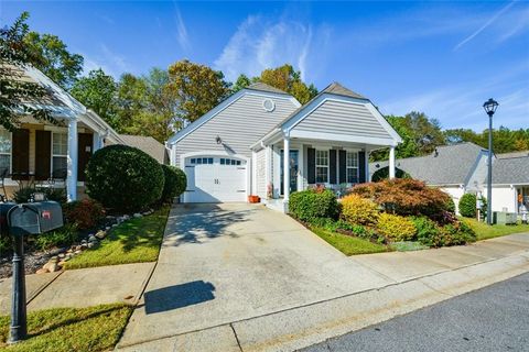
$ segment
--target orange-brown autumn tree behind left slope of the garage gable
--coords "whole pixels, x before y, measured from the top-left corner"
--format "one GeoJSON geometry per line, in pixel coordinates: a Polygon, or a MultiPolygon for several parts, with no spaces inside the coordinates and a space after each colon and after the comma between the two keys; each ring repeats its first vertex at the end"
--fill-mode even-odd
{"type": "Polygon", "coordinates": [[[187,59],[171,65],[169,76],[170,90],[179,101],[175,114],[181,121],[195,121],[229,94],[222,72],[187,59]]]}

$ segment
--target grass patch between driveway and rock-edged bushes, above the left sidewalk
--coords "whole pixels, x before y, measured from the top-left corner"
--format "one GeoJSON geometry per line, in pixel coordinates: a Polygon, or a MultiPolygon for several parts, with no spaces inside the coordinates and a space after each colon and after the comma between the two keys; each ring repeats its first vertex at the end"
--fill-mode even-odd
{"type": "Polygon", "coordinates": [[[99,246],[66,262],[66,270],[156,261],[169,209],[165,206],[112,228],[99,246]]]}

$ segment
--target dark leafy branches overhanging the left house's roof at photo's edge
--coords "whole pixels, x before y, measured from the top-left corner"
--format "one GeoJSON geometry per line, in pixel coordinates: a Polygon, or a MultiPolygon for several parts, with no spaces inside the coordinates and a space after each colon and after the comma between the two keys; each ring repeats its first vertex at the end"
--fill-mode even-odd
{"type": "Polygon", "coordinates": [[[0,30],[0,124],[7,130],[20,125],[23,114],[37,120],[56,122],[50,110],[29,107],[29,101],[39,101],[46,95],[40,85],[23,78],[23,67],[34,59],[24,42],[29,32],[29,13],[23,12],[10,28],[0,30]]]}

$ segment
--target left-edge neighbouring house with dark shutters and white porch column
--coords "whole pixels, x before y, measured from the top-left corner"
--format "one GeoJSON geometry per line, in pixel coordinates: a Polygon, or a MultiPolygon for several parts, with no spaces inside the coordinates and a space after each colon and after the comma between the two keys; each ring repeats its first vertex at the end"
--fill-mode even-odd
{"type": "Polygon", "coordinates": [[[47,91],[40,101],[26,105],[51,110],[60,124],[45,123],[25,114],[21,117],[20,129],[9,132],[0,128],[3,189],[10,197],[20,184],[45,184],[53,177],[63,179],[53,186],[66,186],[68,200],[75,200],[78,191],[84,189],[84,173],[90,155],[106,144],[123,141],[99,116],[39,69],[25,67],[19,72],[20,79],[39,84],[47,91]]]}

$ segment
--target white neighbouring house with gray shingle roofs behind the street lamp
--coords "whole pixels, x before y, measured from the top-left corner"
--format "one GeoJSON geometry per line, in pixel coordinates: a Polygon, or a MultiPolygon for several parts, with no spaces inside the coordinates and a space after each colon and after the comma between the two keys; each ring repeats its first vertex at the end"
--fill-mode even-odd
{"type": "MultiPolygon", "coordinates": [[[[452,196],[456,208],[466,193],[487,194],[488,151],[474,143],[439,146],[432,154],[396,161],[411,177],[436,186],[452,196]]],[[[370,164],[371,176],[388,162],[370,164]]],[[[493,157],[493,211],[520,212],[529,208],[529,151],[493,157]]]]}

